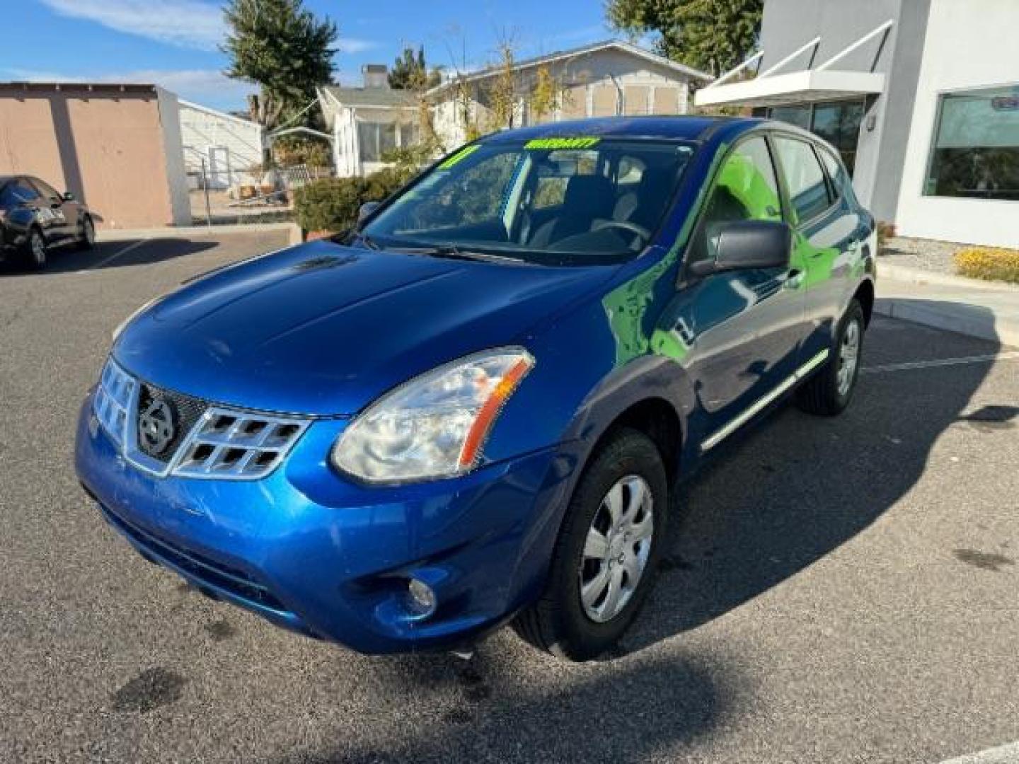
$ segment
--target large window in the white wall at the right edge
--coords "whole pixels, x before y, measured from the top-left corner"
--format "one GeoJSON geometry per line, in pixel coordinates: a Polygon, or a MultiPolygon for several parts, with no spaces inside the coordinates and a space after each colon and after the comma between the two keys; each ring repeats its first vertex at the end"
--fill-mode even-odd
{"type": "Polygon", "coordinates": [[[923,193],[1019,201],[1019,86],[941,97],[923,193]]]}

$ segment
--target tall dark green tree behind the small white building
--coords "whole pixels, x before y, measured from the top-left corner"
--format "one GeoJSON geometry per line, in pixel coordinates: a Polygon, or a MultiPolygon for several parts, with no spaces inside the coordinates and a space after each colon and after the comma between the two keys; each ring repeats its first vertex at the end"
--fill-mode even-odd
{"type": "Polygon", "coordinates": [[[226,74],[259,86],[249,111],[267,129],[294,117],[316,99],[317,87],[332,81],[336,24],[316,18],[303,0],[229,0],[223,14],[226,74]]]}

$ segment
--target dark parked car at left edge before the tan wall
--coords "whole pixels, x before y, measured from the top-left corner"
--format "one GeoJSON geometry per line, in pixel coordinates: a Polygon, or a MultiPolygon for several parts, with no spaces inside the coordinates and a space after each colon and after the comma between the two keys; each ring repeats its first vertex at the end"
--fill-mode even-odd
{"type": "Polygon", "coordinates": [[[42,270],[51,245],[74,242],[90,250],[95,240],[92,214],[72,194],[58,194],[29,175],[0,175],[0,259],[18,254],[42,270]]]}

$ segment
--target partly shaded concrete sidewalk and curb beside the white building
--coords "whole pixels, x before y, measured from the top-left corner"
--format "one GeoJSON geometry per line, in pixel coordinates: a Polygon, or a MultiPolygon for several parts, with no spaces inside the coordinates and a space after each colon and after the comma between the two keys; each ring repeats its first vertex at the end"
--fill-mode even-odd
{"type": "Polygon", "coordinates": [[[1019,286],[878,266],[874,311],[1019,347],[1019,286]]]}

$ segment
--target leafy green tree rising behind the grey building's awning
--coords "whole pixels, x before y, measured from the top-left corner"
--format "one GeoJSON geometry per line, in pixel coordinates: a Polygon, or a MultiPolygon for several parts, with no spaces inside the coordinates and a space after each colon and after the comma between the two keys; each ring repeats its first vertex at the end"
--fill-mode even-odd
{"type": "Polygon", "coordinates": [[[656,36],[663,56],[718,75],[757,46],[763,0],[608,0],[614,29],[656,36]]]}

